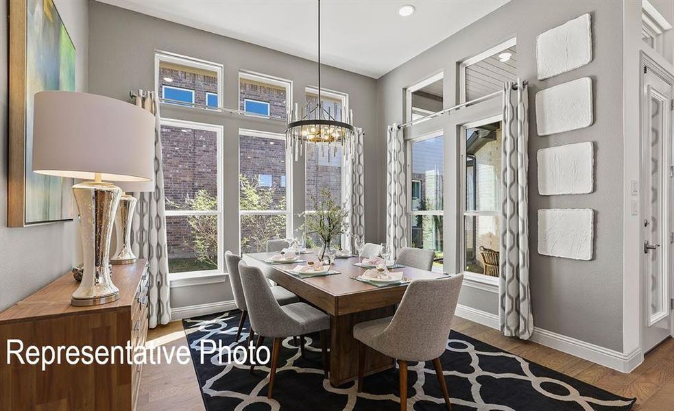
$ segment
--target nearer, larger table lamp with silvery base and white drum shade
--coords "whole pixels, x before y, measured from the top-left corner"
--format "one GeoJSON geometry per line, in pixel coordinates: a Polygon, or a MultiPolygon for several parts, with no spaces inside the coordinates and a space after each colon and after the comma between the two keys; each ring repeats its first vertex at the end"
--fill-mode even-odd
{"type": "Polygon", "coordinates": [[[109,182],[153,179],[154,124],[147,110],[110,97],[67,91],[34,96],[33,171],[93,179],[73,186],[84,259],[73,306],[119,299],[110,279],[109,253],[121,189],[109,182]]]}

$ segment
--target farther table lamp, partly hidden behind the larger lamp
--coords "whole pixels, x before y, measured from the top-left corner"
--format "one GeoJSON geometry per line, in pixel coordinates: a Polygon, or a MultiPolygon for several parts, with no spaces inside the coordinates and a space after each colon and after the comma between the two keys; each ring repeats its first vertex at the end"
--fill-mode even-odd
{"type": "MultiPolygon", "coordinates": [[[[154,160],[154,157],[149,160],[154,160]]],[[[138,259],[131,249],[131,225],[134,220],[134,210],[136,209],[136,202],[138,200],[127,193],[154,191],[154,180],[143,183],[119,182],[117,183],[117,186],[121,188],[122,195],[119,199],[117,214],[115,214],[116,249],[115,253],[112,254],[110,263],[131,264],[138,259]]]]}

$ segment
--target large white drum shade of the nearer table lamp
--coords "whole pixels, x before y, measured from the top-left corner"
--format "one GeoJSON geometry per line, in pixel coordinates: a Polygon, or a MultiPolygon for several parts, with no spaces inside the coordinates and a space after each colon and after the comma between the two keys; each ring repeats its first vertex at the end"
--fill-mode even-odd
{"type": "Polygon", "coordinates": [[[110,182],[154,180],[152,113],[83,92],[42,91],[34,98],[35,173],[78,179],[100,173],[110,182]]]}

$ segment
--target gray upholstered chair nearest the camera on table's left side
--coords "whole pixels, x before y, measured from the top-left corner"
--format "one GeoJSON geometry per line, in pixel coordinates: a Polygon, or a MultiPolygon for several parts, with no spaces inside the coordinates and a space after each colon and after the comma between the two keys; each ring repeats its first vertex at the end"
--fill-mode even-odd
{"type": "MultiPolygon", "coordinates": [[[[280,306],[272,291],[269,290],[267,279],[260,269],[239,262],[243,294],[248,302],[250,323],[258,334],[257,347],[260,347],[265,337],[274,338],[272,345],[272,365],[269,371],[269,388],[267,398],[272,398],[274,377],[278,365],[278,352],[281,340],[289,336],[303,336],[313,332],[320,332],[323,351],[323,372],[328,376],[328,346],[326,329],[330,327],[330,317],[317,308],[306,303],[292,303],[280,306]]],[[[251,372],[253,366],[250,368],[251,372]]]]}

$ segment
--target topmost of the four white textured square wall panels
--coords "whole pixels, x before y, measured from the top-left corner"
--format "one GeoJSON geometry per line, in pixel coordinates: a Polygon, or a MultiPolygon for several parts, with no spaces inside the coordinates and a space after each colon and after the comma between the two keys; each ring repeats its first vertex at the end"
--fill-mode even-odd
{"type": "Polygon", "coordinates": [[[538,79],[577,69],[592,61],[590,14],[567,21],[536,38],[538,79]]]}

